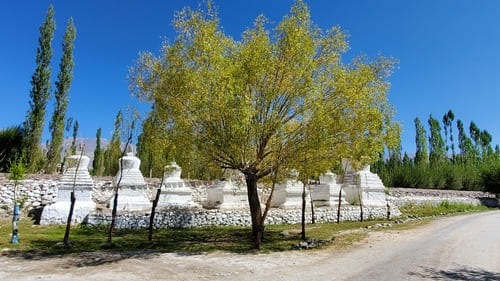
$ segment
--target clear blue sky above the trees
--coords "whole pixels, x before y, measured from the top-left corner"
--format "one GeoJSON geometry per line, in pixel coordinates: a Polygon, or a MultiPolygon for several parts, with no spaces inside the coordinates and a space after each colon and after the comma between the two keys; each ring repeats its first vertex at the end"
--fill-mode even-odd
{"type": "MultiPolygon", "coordinates": [[[[274,22],[292,0],[215,1],[224,30],[239,38],[260,13],[274,22]]],[[[403,125],[403,150],[415,150],[413,119],[427,124],[452,109],[466,126],[474,120],[500,143],[500,1],[306,1],[314,22],[350,34],[346,59],[361,53],[399,59],[390,78],[390,101],[403,125]]],[[[199,1],[4,1],[0,4],[0,128],[23,122],[30,77],[35,69],[38,28],[54,4],[53,79],[69,17],[77,28],[74,79],[68,116],[80,123],[81,137],[103,128],[109,138],[117,111],[148,105],[131,97],[127,69],[141,51],[158,52],[162,38],[175,36],[174,11],[199,1]]],[[[52,114],[53,99],[46,120],[52,114]]],[[[48,124],[48,122],[47,122],[48,124]]],[[[47,126],[46,126],[47,127],[47,126]]],[[[454,128],[456,135],[456,127],[454,128]]],[[[49,138],[45,129],[43,141],[49,138]]]]}

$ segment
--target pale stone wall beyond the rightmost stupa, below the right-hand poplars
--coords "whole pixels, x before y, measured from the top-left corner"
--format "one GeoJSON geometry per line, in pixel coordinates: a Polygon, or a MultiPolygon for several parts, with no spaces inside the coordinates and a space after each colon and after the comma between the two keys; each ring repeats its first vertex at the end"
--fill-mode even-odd
{"type": "Polygon", "coordinates": [[[412,204],[439,204],[443,201],[473,205],[498,207],[499,200],[495,195],[481,191],[439,190],[417,188],[389,188],[387,200],[391,205],[403,206],[412,204]]]}

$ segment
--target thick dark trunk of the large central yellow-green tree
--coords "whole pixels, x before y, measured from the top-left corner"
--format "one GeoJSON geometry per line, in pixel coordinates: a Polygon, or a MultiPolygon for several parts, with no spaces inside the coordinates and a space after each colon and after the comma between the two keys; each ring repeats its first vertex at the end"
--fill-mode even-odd
{"type": "Polygon", "coordinates": [[[260,242],[264,233],[264,223],[262,221],[262,210],[257,192],[257,177],[255,174],[247,173],[245,174],[245,180],[247,183],[250,216],[252,218],[252,234],[255,238],[254,248],[260,249],[260,242]]]}

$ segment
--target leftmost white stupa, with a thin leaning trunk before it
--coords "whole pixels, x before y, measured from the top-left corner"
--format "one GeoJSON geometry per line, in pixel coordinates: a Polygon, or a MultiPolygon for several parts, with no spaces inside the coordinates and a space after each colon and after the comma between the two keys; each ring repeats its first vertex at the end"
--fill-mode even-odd
{"type": "Polygon", "coordinates": [[[92,189],[94,181],[89,175],[88,165],[90,159],[80,154],[66,158],[68,169],[64,172],[61,180],[57,184],[56,203],[45,206],[42,211],[40,224],[63,224],[68,220],[71,206],[71,192],[75,192],[75,206],[73,210],[72,223],[84,222],[88,214],[95,210],[95,203],[92,201],[92,189]],[[79,165],[78,165],[78,162],[79,165]],[[78,167],[78,169],[77,169],[78,167]]]}

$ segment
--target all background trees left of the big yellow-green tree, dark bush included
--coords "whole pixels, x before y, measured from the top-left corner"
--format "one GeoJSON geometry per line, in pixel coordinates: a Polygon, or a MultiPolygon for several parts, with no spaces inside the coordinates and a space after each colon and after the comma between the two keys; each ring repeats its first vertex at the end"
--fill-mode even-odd
{"type": "MultiPolygon", "coordinates": [[[[73,19],[67,22],[62,42],[62,56],[55,87],[51,83],[52,41],[56,22],[54,7],[49,6],[45,21],[40,26],[39,46],[36,51],[36,69],[31,78],[29,110],[22,126],[14,126],[0,131],[0,171],[21,160],[29,172],[55,173],[64,167],[64,158],[76,154],[79,123],[67,118],[69,91],[73,80],[73,49],[76,28],[73,19]],[[54,97],[54,112],[49,122],[51,134],[45,147],[41,145],[45,127],[46,106],[54,97]],[[71,133],[72,131],[72,133],[71,133]],[[64,140],[72,137],[71,146],[63,153],[64,140]],[[62,156],[62,157],[61,157],[62,156]]],[[[114,133],[107,149],[101,145],[101,128],[97,130],[97,147],[94,151],[93,174],[114,175],[118,171],[118,158],[121,156],[120,133],[122,131],[122,112],[115,121],[114,133]]]]}

